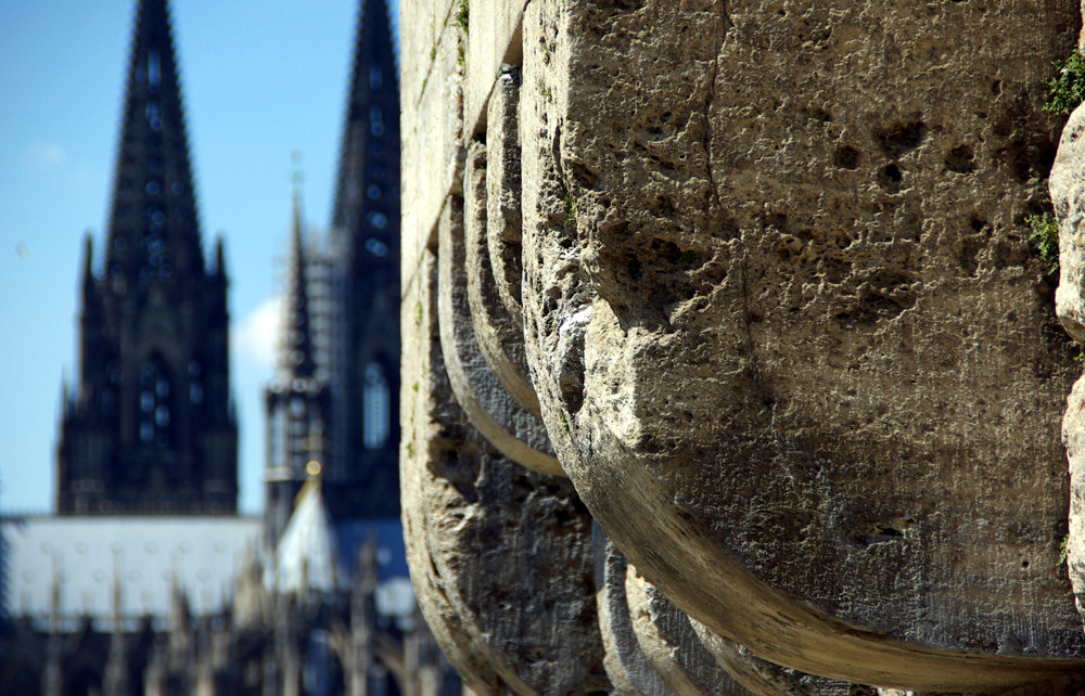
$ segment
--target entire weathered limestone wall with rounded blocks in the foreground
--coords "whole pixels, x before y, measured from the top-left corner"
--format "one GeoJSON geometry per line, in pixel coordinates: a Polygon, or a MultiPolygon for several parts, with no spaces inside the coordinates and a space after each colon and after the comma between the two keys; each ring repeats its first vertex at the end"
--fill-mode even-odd
{"type": "Polygon", "coordinates": [[[404,516],[476,692],[1073,693],[1081,365],[1025,219],[1081,24],[404,0],[404,516]]]}

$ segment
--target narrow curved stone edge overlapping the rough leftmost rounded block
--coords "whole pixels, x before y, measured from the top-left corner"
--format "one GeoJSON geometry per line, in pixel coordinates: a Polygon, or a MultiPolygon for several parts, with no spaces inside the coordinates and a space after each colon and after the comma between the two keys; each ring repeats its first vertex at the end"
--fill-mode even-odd
{"type": "MultiPolygon", "coordinates": [[[[550,449],[542,422],[524,410],[506,390],[486,360],[485,351],[480,350],[468,298],[464,222],[477,228],[476,241],[485,236],[485,149],[476,146],[471,152],[464,176],[465,197],[452,197],[451,208],[446,207],[447,223],[442,225],[439,232],[438,314],[445,369],[460,408],[483,437],[502,454],[527,468],[564,476],[550,449]]],[[[478,269],[473,274],[477,276],[478,269]]]]}

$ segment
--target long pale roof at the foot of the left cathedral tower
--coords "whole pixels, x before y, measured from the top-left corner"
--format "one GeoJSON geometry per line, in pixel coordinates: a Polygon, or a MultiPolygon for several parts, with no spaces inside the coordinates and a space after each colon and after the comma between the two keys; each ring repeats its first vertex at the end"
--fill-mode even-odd
{"type": "Polygon", "coordinates": [[[62,616],[106,619],[119,580],[124,617],[166,618],[175,576],[193,615],[224,608],[246,550],[259,541],[260,520],[42,516],[0,519],[0,534],[9,615],[49,617],[59,587],[62,616]]]}

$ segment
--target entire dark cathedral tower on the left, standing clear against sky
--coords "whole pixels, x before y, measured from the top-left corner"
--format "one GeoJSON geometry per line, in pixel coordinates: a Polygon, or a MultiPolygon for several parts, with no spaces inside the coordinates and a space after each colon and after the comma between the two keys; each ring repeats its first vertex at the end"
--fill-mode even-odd
{"type": "MultiPolygon", "coordinates": [[[[234,513],[222,243],[205,262],[166,0],[140,0],[104,265],[86,241],[61,514],[234,513]]],[[[67,391],[67,390],[66,390],[67,391]]]]}

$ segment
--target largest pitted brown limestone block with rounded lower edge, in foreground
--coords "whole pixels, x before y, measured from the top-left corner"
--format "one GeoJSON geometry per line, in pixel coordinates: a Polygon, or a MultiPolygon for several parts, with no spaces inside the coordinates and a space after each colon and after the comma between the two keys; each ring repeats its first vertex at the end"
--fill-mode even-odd
{"type": "Polygon", "coordinates": [[[592,515],[713,632],[884,687],[1085,668],[1056,568],[1078,370],[1023,224],[1078,25],[1064,0],[527,5],[532,382],[592,515]]]}

